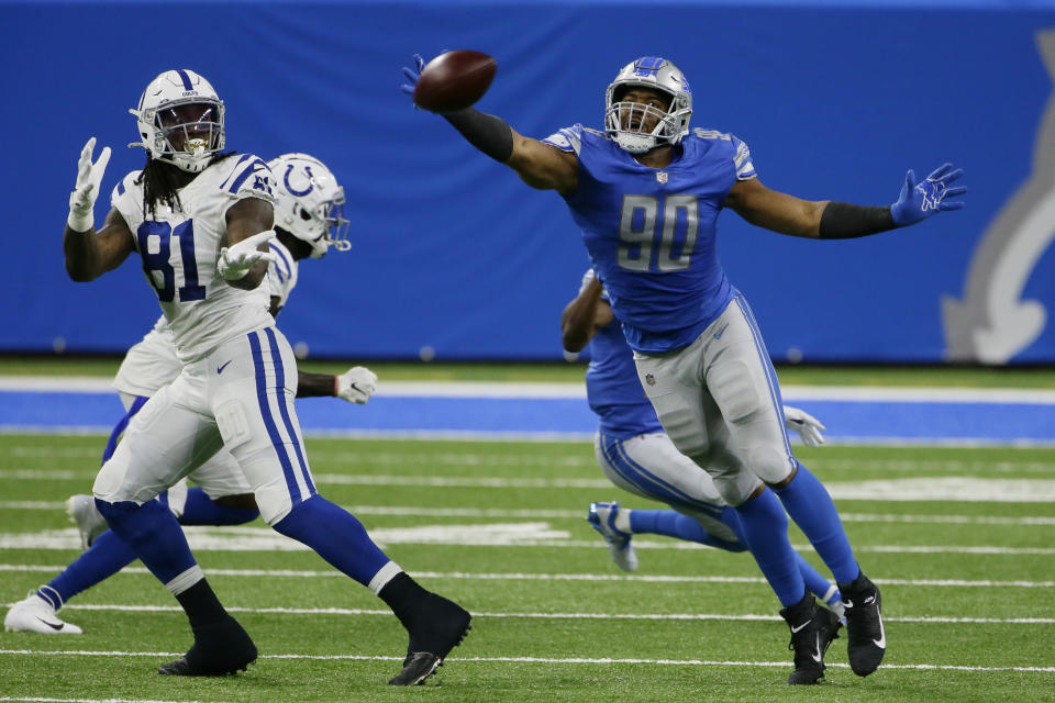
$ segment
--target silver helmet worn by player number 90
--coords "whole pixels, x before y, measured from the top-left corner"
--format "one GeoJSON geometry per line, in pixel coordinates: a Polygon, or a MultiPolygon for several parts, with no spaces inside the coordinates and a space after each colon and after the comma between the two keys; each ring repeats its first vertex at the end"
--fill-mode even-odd
{"type": "Polygon", "coordinates": [[[689,81],[677,66],[658,56],[643,56],[626,64],[604,91],[604,131],[631,154],[643,154],[663,144],[677,144],[689,133],[691,116],[689,81]],[[652,88],[669,96],[669,109],[664,112],[641,102],[621,102],[632,86],[652,88]],[[647,133],[643,131],[646,116],[657,120],[656,126],[647,133]],[[626,127],[623,118],[626,118],[626,127]],[[636,126],[631,126],[633,124],[636,126]]]}

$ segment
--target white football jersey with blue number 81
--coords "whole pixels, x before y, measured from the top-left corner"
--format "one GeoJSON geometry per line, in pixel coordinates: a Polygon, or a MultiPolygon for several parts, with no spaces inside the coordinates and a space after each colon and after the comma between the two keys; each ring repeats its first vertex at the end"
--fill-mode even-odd
{"type": "Polygon", "coordinates": [[[267,164],[252,154],[213,164],[179,191],[179,210],[159,203],[153,220],[144,219],[138,176],[133,171],[118,183],[111,204],[132,230],[179,360],[199,359],[227,339],[270,325],[269,286],[242,290],[216,272],[227,209],[245,198],[274,203],[267,164]]]}

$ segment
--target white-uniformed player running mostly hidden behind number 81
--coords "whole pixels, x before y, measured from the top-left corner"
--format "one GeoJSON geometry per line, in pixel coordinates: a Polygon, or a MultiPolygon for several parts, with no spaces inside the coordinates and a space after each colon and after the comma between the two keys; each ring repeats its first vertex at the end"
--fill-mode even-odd
{"type": "MultiPolygon", "coordinates": [[[[284,154],[268,166],[277,180],[276,238],[268,242],[275,260],[267,272],[270,312],[277,316],[297,284],[299,261],[322,258],[331,247],[346,252],[351,243],[348,221],[343,216],[344,189],[322,161],[307,154],[284,154]]],[[[176,380],[180,368],[171,330],[162,315],[154,328],[129,349],[113,380],[126,414],[110,435],[103,464],[113,456],[131,417],[158,390],[176,380]]],[[[297,398],[332,395],[360,404],[369,400],[377,383],[377,376],[359,366],[341,376],[300,370],[297,376],[297,398]]],[[[187,478],[196,483],[193,488],[185,478],[157,498],[181,525],[240,525],[259,515],[252,487],[225,448],[187,478]]],[[[56,611],[135,560],[135,554],[108,529],[91,495],[71,496],[67,512],[80,533],[85,554],[11,606],[3,621],[8,632],[80,634],[80,627],[62,621],[56,611]]]]}

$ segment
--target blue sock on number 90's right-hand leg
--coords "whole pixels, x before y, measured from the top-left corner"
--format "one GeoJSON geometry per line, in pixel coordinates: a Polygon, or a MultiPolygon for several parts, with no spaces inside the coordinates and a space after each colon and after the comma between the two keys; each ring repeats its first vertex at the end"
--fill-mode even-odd
{"type": "Polygon", "coordinates": [[[854,550],[846,538],[846,531],[839,518],[832,496],[801,464],[791,482],[776,493],[780,496],[788,515],[806,534],[807,539],[817,549],[836,582],[853,581],[859,569],[854,550]]]}

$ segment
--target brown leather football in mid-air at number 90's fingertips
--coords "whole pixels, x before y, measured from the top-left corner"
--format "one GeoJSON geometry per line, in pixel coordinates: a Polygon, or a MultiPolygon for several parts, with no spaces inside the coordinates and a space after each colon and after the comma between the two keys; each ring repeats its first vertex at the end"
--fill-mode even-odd
{"type": "Polygon", "coordinates": [[[498,64],[480,52],[458,49],[440,54],[421,69],[414,104],[430,112],[457,112],[484,97],[498,64]]]}

